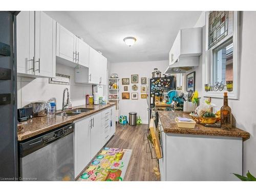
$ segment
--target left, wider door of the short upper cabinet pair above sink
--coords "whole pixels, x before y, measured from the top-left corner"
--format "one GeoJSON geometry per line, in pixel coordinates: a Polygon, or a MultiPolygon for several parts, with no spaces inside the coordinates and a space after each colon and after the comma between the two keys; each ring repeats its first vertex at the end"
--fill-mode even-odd
{"type": "Polygon", "coordinates": [[[56,55],[72,62],[75,60],[76,42],[75,35],[57,24],[57,48],[56,55]]]}

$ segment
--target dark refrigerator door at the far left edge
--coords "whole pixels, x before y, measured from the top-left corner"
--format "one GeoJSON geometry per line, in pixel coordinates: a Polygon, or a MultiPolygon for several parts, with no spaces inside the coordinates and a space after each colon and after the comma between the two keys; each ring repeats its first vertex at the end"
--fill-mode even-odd
{"type": "Polygon", "coordinates": [[[0,177],[17,177],[16,65],[14,13],[0,11],[0,177]]]}

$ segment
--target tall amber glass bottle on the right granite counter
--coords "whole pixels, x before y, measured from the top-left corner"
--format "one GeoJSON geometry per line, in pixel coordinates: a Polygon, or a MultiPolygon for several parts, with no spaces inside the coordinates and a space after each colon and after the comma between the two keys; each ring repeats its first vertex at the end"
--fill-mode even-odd
{"type": "Polygon", "coordinates": [[[231,108],[228,106],[227,92],[224,92],[223,106],[221,107],[221,128],[232,129],[231,108]]]}

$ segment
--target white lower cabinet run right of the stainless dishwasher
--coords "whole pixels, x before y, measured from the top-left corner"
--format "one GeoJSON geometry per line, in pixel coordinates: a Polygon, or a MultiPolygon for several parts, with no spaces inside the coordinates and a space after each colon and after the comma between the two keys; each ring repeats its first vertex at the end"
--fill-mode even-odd
{"type": "Polygon", "coordinates": [[[115,134],[115,107],[77,120],[74,131],[75,178],[115,134]],[[113,114],[113,115],[112,115],[113,114]]]}

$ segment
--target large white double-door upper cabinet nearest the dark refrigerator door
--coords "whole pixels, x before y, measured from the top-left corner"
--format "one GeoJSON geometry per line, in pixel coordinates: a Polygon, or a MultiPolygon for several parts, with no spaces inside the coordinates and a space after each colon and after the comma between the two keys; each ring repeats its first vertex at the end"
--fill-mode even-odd
{"type": "Polygon", "coordinates": [[[17,15],[17,72],[22,76],[55,77],[56,22],[42,11],[17,15]]]}

